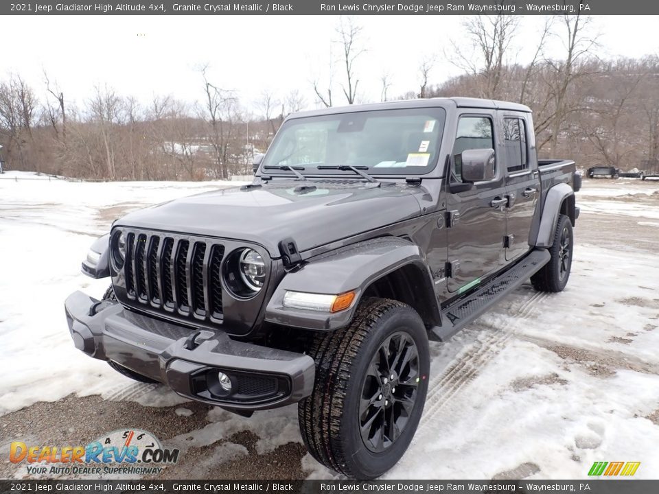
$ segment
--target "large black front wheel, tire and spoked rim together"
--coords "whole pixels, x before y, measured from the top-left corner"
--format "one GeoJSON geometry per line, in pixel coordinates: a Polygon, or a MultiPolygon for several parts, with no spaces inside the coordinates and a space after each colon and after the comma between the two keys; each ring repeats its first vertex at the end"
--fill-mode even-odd
{"type": "Polygon", "coordinates": [[[360,303],[351,324],[314,337],[312,395],[299,403],[304,443],[326,467],[371,479],[410,444],[428,391],[428,334],[408,305],[360,303]]]}

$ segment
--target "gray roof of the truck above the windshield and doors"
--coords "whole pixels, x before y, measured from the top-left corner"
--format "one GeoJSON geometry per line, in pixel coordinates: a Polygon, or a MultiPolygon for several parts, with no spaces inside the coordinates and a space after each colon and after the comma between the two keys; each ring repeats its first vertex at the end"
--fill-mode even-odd
{"type": "Polygon", "coordinates": [[[402,99],[383,103],[367,103],[349,106],[332,106],[319,110],[305,110],[292,113],[288,118],[316,117],[319,115],[334,115],[336,113],[354,113],[360,111],[393,110],[395,108],[432,108],[436,106],[454,106],[455,108],[489,108],[497,110],[513,110],[531,113],[526,105],[512,102],[502,102],[496,99],[481,99],[470,97],[437,97],[424,99],[402,99]]]}

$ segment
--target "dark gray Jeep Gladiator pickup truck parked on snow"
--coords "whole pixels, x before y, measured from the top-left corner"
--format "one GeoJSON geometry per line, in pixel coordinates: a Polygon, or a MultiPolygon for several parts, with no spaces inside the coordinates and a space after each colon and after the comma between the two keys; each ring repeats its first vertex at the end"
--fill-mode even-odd
{"type": "Polygon", "coordinates": [[[531,111],[422,99],[291,115],[251,185],[116,220],[66,301],[78,349],[251,415],[298,403],[319,462],[375,478],[404,454],[450,338],[531,279],[560,292],[573,161],[538,161],[531,111]]]}

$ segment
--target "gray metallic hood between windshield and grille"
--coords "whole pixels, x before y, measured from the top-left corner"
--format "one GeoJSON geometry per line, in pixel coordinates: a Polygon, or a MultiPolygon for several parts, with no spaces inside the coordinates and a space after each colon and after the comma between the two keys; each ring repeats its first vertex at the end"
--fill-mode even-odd
{"type": "Polygon", "coordinates": [[[300,251],[421,214],[418,187],[358,180],[271,181],[201,193],[130,213],[116,226],[253,242],[279,257],[288,237],[300,251]],[[305,189],[304,187],[308,187],[305,189]]]}

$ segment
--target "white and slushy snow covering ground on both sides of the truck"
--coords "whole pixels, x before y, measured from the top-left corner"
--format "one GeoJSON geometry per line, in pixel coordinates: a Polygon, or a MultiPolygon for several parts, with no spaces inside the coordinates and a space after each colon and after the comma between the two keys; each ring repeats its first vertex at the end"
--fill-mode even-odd
{"type": "MultiPolygon", "coordinates": [[[[163,386],[133,384],[73,349],[62,302],[105,289],[79,265],[112,214],[218,185],[0,180],[0,414],[71,392],[192,414],[163,386]]],[[[424,416],[385,478],[586,478],[594,461],[640,461],[637,478],[659,478],[658,190],[584,181],[566,290],[523,285],[450,342],[431,344],[424,416]],[[634,229],[615,248],[597,241],[603,228],[618,238],[620,222],[634,229]]],[[[164,443],[185,454],[212,448],[183,472],[203,478],[248,455],[231,440],[245,431],[257,436],[256,454],[301,443],[294,406],[252,419],[212,409],[164,443]]],[[[302,467],[310,478],[336,476],[310,455],[302,467]]]]}

